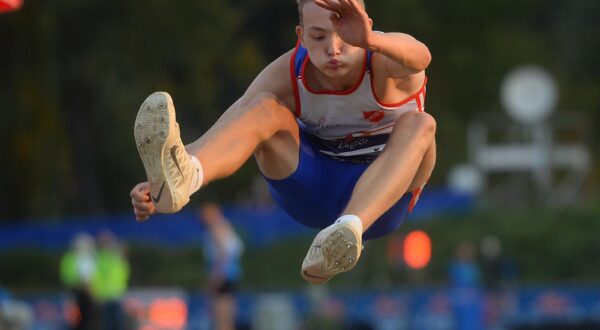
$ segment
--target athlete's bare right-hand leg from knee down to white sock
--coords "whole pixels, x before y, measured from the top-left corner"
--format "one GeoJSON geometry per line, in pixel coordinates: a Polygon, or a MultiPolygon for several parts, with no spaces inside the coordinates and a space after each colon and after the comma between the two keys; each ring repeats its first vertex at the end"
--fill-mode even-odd
{"type": "Polygon", "coordinates": [[[384,151],[358,180],[343,214],[366,230],[406,192],[421,187],[435,165],[435,120],[427,113],[401,116],[384,151]]]}

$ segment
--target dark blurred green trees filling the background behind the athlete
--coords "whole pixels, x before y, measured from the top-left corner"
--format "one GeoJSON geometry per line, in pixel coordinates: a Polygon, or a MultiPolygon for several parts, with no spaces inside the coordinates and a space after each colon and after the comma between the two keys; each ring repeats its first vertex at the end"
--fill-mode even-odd
{"type": "MultiPolygon", "coordinates": [[[[466,160],[468,121],[501,111],[499,84],[516,65],[545,66],[560,108],[600,122],[598,1],[378,0],[367,9],[375,29],[412,34],[433,54],[434,183],[466,160]]],[[[0,222],[127,211],[144,177],[132,136],[143,99],[170,92],[191,141],[294,46],[296,23],[292,0],[26,1],[0,16],[0,222]]],[[[244,194],[249,164],[203,196],[244,194]]]]}

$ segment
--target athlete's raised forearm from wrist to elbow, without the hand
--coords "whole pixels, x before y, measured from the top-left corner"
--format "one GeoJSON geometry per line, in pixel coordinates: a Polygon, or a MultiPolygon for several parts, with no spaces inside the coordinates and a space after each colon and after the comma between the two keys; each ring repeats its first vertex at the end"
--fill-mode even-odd
{"type": "Polygon", "coordinates": [[[431,53],[427,46],[404,33],[373,31],[369,38],[369,49],[384,55],[413,73],[425,70],[431,62],[431,53]]]}

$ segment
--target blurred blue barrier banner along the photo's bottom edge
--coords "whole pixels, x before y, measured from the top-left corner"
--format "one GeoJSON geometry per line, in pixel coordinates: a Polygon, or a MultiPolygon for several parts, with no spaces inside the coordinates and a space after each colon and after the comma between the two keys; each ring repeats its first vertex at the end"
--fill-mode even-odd
{"type": "MultiPolygon", "coordinates": [[[[480,312],[460,314],[451,288],[328,291],[242,291],[236,296],[239,328],[265,319],[281,329],[325,322],[343,329],[598,329],[600,287],[536,287],[479,292],[480,312]],[[315,323],[316,322],[316,323],[315,323]],[[467,323],[464,323],[467,322],[467,323]]],[[[14,298],[29,309],[32,329],[64,329],[73,310],[67,293],[14,298]]],[[[0,304],[0,317],[6,301],[0,304]]],[[[176,288],[132,289],[121,311],[135,328],[212,329],[212,302],[176,288]]],[[[23,307],[23,306],[22,306],[23,307]]],[[[25,313],[27,314],[27,313],[25,313]]],[[[317,327],[318,328],[318,327],[317,327]]]]}

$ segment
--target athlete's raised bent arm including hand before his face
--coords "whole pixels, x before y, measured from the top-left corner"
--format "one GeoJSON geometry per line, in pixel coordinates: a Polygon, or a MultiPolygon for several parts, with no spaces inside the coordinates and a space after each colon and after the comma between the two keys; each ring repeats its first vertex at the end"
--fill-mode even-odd
{"type": "Polygon", "coordinates": [[[391,77],[419,73],[429,65],[431,54],[420,41],[405,33],[372,30],[373,21],[358,0],[314,0],[332,11],[330,17],[337,34],[345,42],[383,55],[381,60],[391,77]]]}

